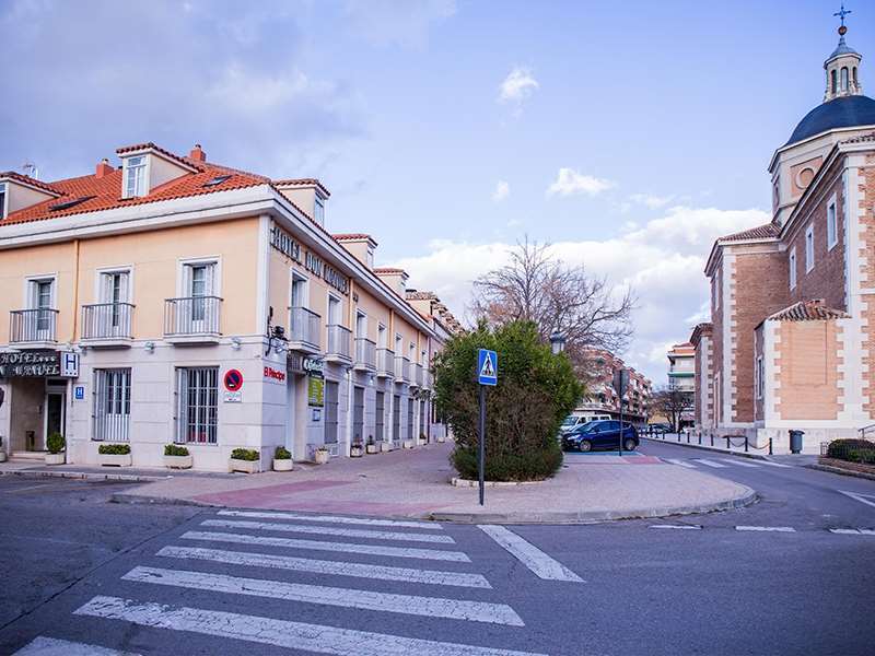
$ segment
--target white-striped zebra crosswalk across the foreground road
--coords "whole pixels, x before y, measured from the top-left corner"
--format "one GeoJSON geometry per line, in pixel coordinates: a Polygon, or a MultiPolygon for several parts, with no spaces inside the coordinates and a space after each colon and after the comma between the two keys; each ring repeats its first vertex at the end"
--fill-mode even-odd
{"type": "MultiPolygon", "coordinates": [[[[103,586],[73,614],[172,632],[179,653],[196,652],[198,636],[209,636],[337,656],[541,656],[506,646],[514,643],[512,632],[526,626],[524,618],[498,598],[492,583],[440,524],[220,511],[185,528],[131,559],[117,589],[103,586]],[[290,537],[299,535],[305,537],[290,537]],[[386,618],[363,621],[364,628],[388,630],[363,631],[359,623],[342,621],[360,613],[386,618]],[[398,624],[405,618],[413,623],[398,624]],[[441,635],[428,626],[439,622],[458,623],[450,637],[464,641],[438,640],[446,631],[441,635]],[[407,628],[390,629],[399,625],[407,628]],[[502,636],[510,637],[497,646],[488,637],[491,632],[478,635],[478,625],[502,628],[511,632],[502,636]]],[[[528,570],[533,582],[583,583],[512,530],[480,528],[510,554],[505,558],[528,570]]],[[[530,644],[523,634],[520,639],[530,644]]],[[[229,646],[228,653],[242,648],[229,646]]],[[[56,653],[135,656],[54,636],[40,636],[19,652],[56,653]]]]}

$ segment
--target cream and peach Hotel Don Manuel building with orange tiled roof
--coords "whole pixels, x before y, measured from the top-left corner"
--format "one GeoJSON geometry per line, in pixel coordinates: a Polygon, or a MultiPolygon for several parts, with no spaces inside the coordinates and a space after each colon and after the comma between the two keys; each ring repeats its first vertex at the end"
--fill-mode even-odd
{"type": "Polygon", "coordinates": [[[135,466],[185,444],[232,449],[400,446],[434,437],[433,355],[458,329],[374,267],[366,234],[331,235],[317,179],[270,179],[154,143],[43,181],[0,174],[0,436],[69,462],[128,443],[135,466]]]}

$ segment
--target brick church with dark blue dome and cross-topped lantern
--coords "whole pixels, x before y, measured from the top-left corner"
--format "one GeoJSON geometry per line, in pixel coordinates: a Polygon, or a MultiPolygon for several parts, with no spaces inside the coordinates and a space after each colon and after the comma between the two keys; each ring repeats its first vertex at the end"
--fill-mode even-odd
{"type": "Polygon", "coordinates": [[[757,448],[786,452],[802,430],[816,453],[875,423],[875,101],[845,32],[824,62],[824,102],[769,164],[772,221],[718,239],[705,268],[698,425],[757,448]]]}

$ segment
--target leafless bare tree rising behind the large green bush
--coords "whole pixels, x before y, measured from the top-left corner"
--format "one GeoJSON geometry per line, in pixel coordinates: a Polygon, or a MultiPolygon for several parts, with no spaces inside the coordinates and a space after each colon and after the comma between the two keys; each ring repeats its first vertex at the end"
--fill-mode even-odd
{"type": "Polygon", "coordinates": [[[627,347],[633,306],[630,290],[617,296],[606,279],[562,262],[549,244],[526,237],[511,251],[510,262],[475,281],[471,309],[492,325],[535,321],[544,340],[560,330],[572,361],[583,364],[587,350],[618,353],[627,347]]]}

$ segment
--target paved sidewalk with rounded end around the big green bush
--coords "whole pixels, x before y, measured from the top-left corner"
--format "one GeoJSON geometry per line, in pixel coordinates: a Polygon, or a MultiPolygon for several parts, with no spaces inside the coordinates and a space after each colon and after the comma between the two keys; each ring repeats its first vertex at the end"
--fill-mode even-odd
{"type": "Polygon", "coordinates": [[[480,507],[476,487],[448,483],[455,473],[447,460],[451,449],[450,443],[434,444],[338,458],[322,467],[295,464],[291,472],[255,476],[174,472],[118,493],[115,500],[442,522],[564,524],[703,513],[756,499],[745,485],[650,458],[628,456],[606,466],[608,459],[570,457],[550,480],[489,488],[486,506],[480,507]]]}

